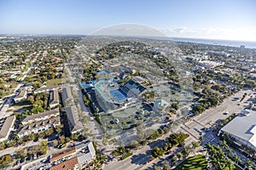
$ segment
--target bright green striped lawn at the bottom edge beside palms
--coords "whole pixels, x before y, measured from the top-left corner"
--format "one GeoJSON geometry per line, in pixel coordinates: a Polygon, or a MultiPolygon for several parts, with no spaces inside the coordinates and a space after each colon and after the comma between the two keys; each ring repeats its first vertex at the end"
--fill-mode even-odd
{"type": "Polygon", "coordinates": [[[197,155],[187,158],[181,164],[179,164],[175,169],[189,169],[189,170],[204,170],[207,169],[207,159],[206,156],[197,155]]]}

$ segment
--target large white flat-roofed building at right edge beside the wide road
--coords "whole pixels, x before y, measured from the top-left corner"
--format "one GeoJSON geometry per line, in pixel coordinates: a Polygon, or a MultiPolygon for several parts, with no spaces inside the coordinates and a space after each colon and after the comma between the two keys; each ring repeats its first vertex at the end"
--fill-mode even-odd
{"type": "Polygon", "coordinates": [[[245,144],[256,150],[256,111],[242,111],[240,115],[222,127],[219,133],[229,133],[236,139],[236,143],[245,144]]]}

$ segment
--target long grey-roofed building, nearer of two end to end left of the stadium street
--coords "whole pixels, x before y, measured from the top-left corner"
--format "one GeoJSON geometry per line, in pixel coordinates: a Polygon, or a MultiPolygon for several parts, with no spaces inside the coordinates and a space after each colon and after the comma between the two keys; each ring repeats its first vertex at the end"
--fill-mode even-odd
{"type": "Polygon", "coordinates": [[[83,130],[83,124],[79,120],[79,111],[78,108],[73,105],[71,107],[66,107],[67,119],[69,130],[71,133],[79,133],[83,130]]]}

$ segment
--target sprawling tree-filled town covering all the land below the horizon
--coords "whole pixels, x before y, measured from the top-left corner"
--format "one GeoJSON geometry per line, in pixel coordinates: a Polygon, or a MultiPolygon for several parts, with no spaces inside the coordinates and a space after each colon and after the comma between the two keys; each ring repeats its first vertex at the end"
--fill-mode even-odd
{"type": "Polygon", "coordinates": [[[81,39],[1,42],[1,168],[255,167],[255,49],[81,39]]]}

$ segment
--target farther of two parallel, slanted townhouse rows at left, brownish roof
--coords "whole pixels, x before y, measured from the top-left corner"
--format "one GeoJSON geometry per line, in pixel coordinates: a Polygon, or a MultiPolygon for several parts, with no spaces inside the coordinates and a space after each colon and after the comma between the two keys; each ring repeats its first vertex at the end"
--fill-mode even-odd
{"type": "Polygon", "coordinates": [[[22,125],[26,125],[32,122],[39,122],[39,121],[44,121],[48,120],[50,117],[54,116],[60,116],[60,111],[59,108],[56,108],[54,110],[49,110],[49,111],[44,111],[38,114],[34,114],[31,116],[26,116],[22,121],[22,125]]]}

